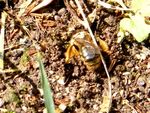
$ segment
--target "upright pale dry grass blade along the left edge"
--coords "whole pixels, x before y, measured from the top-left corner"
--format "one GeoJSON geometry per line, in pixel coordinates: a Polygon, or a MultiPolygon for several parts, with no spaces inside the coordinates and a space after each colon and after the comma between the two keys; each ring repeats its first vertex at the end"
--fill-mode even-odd
{"type": "Polygon", "coordinates": [[[7,18],[7,13],[2,12],[1,16],[1,34],[0,34],[0,69],[4,69],[4,37],[5,37],[5,22],[7,18]]]}

